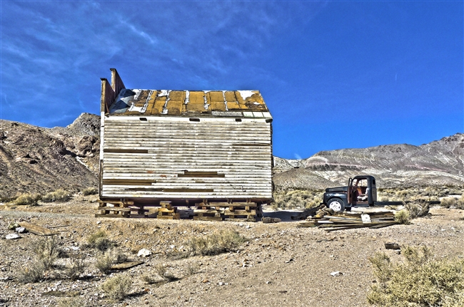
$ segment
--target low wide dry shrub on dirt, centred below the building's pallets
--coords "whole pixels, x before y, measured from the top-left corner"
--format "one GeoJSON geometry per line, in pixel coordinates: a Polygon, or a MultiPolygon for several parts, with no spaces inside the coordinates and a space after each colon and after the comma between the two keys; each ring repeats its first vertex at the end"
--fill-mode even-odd
{"type": "Polygon", "coordinates": [[[193,238],[186,244],[189,254],[211,256],[226,251],[235,251],[246,239],[236,231],[216,231],[213,234],[193,238]]]}

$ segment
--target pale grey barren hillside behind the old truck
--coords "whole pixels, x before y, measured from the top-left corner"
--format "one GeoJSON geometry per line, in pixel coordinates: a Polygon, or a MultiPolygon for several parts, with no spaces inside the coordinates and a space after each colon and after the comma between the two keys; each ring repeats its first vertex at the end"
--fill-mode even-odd
{"type": "Polygon", "coordinates": [[[382,145],[318,152],[303,160],[274,158],[276,187],[323,189],[373,175],[378,187],[464,185],[464,135],[420,146],[382,145]]]}

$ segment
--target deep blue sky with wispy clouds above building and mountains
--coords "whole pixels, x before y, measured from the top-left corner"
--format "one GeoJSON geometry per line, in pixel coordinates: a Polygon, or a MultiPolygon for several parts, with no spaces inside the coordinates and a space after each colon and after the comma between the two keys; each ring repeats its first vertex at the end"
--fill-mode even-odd
{"type": "Polygon", "coordinates": [[[463,1],[0,1],[1,119],[42,127],[128,88],[260,90],[273,152],[464,132],[463,1]]]}

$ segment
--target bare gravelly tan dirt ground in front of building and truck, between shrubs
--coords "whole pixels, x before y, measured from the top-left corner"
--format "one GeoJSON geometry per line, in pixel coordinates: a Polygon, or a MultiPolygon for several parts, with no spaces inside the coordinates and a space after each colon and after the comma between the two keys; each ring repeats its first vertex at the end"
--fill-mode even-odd
{"type": "MultiPolygon", "coordinates": [[[[61,298],[44,295],[49,291],[77,291],[88,306],[368,306],[365,297],[375,282],[368,257],[385,252],[393,261],[402,259],[386,250],[385,242],[430,246],[437,258],[464,256],[464,211],[458,209],[433,207],[429,217],[410,225],[326,232],[298,228],[298,222],[288,221],[294,212],[266,212],[265,216],[283,217],[284,222],[276,224],[96,218],[95,200],[96,196],[79,195],[61,204],[0,205],[0,306],[56,306],[61,298]],[[40,239],[30,233],[4,239],[14,232],[9,223],[20,221],[60,231],[57,239],[69,256],[85,254],[89,266],[81,279],[49,274],[39,283],[18,283],[18,272],[31,264],[31,246],[40,239]],[[101,274],[94,266],[97,251],[85,248],[87,237],[100,229],[129,259],[144,263],[101,274]],[[248,241],[236,252],[217,256],[168,257],[193,236],[218,229],[236,230],[248,241]],[[138,257],[142,248],[152,255],[138,257]],[[141,276],[156,276],[158,264],[178,280],[144,283],[141,276]],[[333,271],[341,275],[331,276],[333,271]],[[131,276],[133,286],[128,298],[115,303],[104,295],[101,284],[118,274],[131,276]]],[[[56,267],[66,261],[58,259],[56,267]]]]}

